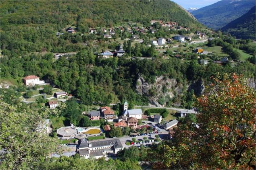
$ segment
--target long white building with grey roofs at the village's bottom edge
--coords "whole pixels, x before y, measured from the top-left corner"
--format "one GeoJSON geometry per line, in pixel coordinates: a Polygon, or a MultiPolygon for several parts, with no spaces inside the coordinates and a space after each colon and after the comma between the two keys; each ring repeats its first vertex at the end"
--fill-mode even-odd
{"type": "Polygon", "coordinates": [[[117,154],[123,150],[123,145],[119,139],[101,140],[88,142],[87,139],[79,140],[79,156],[88,159],[105,157],[109,153],[117,154]]]}

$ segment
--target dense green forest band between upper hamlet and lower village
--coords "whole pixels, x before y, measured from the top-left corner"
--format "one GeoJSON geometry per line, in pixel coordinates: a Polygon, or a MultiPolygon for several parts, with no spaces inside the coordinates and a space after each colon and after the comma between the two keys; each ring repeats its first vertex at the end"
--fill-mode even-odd
{"type": "MultiPolygon", "coordinates": [[[[223,41],[212,43],[225,44],[223,41]]],[[[132,48],[132,51],[134,49],[132,48]]],[[[230,52],[235,56],[235,52],[230,52]]],[[[86,105],[115,103],[123,101],[125,97],[131,104],[148,104],[148,97],[156,94],[153,89],[145,96],[137,94],[136,83],[139,76],[150,84],[154,83],[157,76],[175,79],[176,87],[181,87],[182,92],[175,94],[173,98],[167,98],[166,104],[171,106],[178,102],[182,107],[187,106],[187,88],[182,87],[191,84],[194,80],[202,78],[206,82],[210,81],[210,76],[216,75],[217,72],[220,74],[236,72],[246,78],[255,77],[255,67],[249,62],[232,67],[229,63],[225,66],[215,63],[202,66],[197,64],[197,60],[181,62],[176,58],[102,59],[96,58],[91,49],[79,51],[68,59],[61,57],[55,60],[52,53],[48,53],[2,57],[0,61],[1,78],[14,79],[17,84],[22,85],[23,76],[34,74],[74,94],[86,105]]]]}

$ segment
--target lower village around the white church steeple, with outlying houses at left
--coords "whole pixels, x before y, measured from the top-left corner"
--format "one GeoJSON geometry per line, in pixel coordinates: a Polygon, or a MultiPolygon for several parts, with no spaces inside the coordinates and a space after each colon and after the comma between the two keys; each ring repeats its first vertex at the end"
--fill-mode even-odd
{"type": "MultiPolygon", "coordinates": [[[[26,86],[30,87],[36,85],[48,86],[47,83],[35,75],[23,78],[23,82],[26,86]]],[[[49,100],[45,107],[58,109],[59,104],[70,99],[67,92],[64,91],[55,92],[52,98],[54,100],[49,100]]],[[[150,147],[150,145],[157,145],[163,139],[171,139],[172,129],[179,123],[177,119],[168,122],[163,121],[164,115],[162,113],[146,114],[145,111],[143,113],[142,109],[128,109],[127,100],[122,103],[122,106],[123,111],[119,115],[116,115],[108,106],[98,107],[97,110],[81,113],[92,122],[100,119],[103,120],[103,124],[99,126],[76,127],[71,124],[56,129],[56,137],[63,143],[62,146],[65,150],[63,155],[72,156],[79,154],[79,156],[84,158],[114,157],[118,151],[123,150],[125,147],[128,148],[133,145],[136,147],[141,145],[150,147]],[[123,133],[123,129],[129,132],[123,133]]],[[[175,114],[178,118],[182,118],[187,114],[195,113],[197,113],[196,109],[177,109],[175,114]]],[[[46,119],[37,127],[37,131],[40,133],[52,133],[53,127],[51,123],[50,119],[46,119]]],[[[60,155],[52,153],[52,156],[59,157],[60,155]]]]}

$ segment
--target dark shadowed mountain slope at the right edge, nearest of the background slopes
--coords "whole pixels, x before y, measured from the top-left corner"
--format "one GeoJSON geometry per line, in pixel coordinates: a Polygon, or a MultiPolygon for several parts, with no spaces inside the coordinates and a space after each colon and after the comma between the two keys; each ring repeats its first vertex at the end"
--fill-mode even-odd
{"type": "Polygon", "coordinates": [[[238,39],[255,39],[255,10],[255,6],[252,7],[246,14],[223,27],[221,31],[230,33],[238,39]]]}

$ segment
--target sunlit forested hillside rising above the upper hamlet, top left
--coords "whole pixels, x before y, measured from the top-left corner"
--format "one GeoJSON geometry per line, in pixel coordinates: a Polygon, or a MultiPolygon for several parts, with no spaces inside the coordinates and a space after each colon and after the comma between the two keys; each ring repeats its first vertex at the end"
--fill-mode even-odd
{"type": "Polygon", "coordinates": [[[185,10],[169,0],[151,1],[3,1],[1,2],[1,49],[4,54],[31,51],[78,51],[81,37],[58,39],[56,32],[73,26],[80,34],[90,27],[112,27],[123,22],[150,25],[151,19],[200,26],[185,10]]]}

